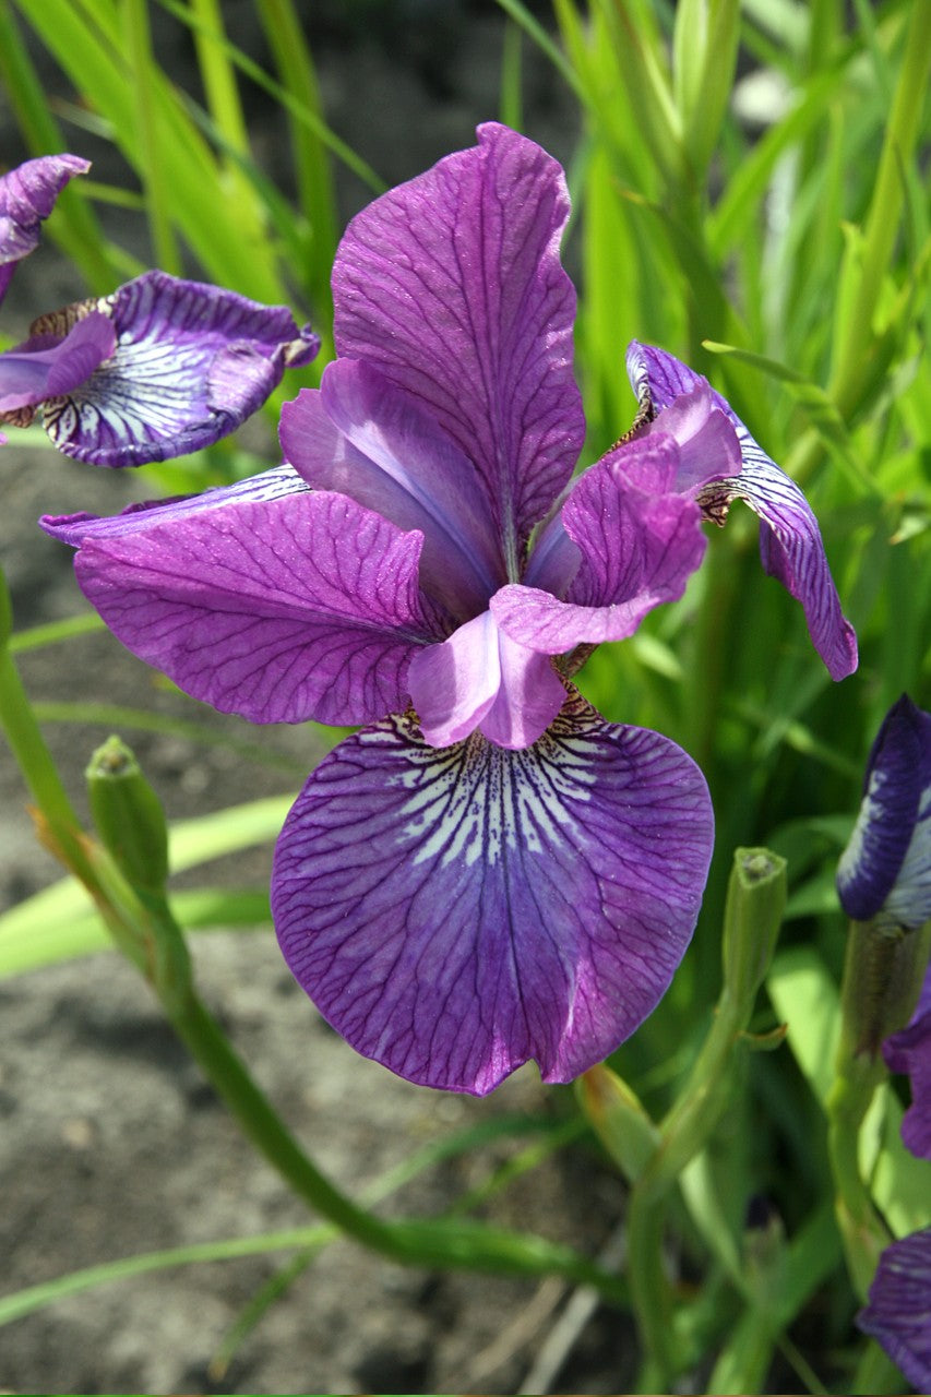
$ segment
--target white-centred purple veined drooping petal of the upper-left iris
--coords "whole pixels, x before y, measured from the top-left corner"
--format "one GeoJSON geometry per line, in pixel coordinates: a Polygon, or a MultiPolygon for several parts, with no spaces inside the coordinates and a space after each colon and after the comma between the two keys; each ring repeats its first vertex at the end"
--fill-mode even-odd
{"type": "MultiPolygon", "coordinates": [[[[285,367],[319,349],[284,306],[161,271],[87,306],[112,320],[116,351],[45,404],[45,427],[59,451],[95,465],[143,465],[218,441],[261,407],[285,367]]],[[[34,330],[63,334],[87,306],[34,330]]]]}

